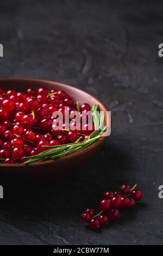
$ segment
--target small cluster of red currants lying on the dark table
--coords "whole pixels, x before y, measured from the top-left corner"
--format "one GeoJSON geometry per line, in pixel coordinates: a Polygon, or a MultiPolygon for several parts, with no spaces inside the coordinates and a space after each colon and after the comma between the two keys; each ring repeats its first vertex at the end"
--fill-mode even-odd
{"type": "Polygon", "coordinates": [[[91,229],[97,230],[109,221],[117,220],[120,218],[119,208],[132,209],[135,202],[142,198],[142,192],[135,190],[135,187],[136,185],[130,189],[128,185],[122,185],[118,191],[106,191],[99,203],[101,211],[95,215],[93,209],[86,209],[82,214],[82,221],[88,222],[91,229]]]}

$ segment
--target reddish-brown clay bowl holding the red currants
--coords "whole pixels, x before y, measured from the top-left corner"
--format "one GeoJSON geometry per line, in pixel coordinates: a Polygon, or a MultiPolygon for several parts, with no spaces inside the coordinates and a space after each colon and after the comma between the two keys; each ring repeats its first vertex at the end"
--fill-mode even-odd
{"type": "MultiPolygon", "coordinates": [[[[15,89],[17,91],[24,91],[30,87],[37,89],[39,87],[46,87],[48,89],[56,88],[60,90],[65,90],[74,100],[78,100],[79,104],[87,102],[90,105],[98,104],[102,111],[108,111],[108,108],[97,99],[97,97],[84,92],[76,87],[69,86],[68,84],[59,83],[55,81],[47,81],[41,79],[26,79],[26,78],[4,78],[0,79],[0,87],[4,90],[15,89]]],[[[80,164],[91,159],[93,155],[102,147],[106,137],[101,137],[97,142],[90,145],[86,149],[72,154],[70,156],[65,156],[58,160],[48,160],[43,162],[35,162],[29,164],[28,166],[22,164],[3,164],[0,163],[0,180],[1,178],[7,178],[11,180],[11,177],[16,179],[51,179],[57,176],[65,175],[69,173],[68,170],[76,169],[80,164]],[[76,168],[72,168],[75,167],[76,168]]]]}

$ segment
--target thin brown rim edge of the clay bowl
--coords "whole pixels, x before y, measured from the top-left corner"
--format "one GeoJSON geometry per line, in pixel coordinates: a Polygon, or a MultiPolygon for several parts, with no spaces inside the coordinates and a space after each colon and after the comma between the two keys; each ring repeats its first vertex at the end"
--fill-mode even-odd
{"type": "MultiPolygon", "coordinates": [[[[3,81],[28,81],[28,82],[43,82],[43,83],[54,83],[56,84],[57,86],[66,86],[66,87],[71,87],[71,88],[74,88],[74,89],[77,89],[77,90],[80,90],[81,92],[83,93],[86,93],[88,94],[89,96],[93,97],[94,99],[96,99],[99,103],[101,103],[101,105],[103,106],[104,108],[104,111],[109,111],[108,107],[101,101],[99,100],[95,95],[92,95],[90,94],[89,92],[87,92],[86,90],[83,90],[81,88],[78,88],[76,86],[72,86],[72,84],[69,84],[69,83],[62,83],[62,82],[58,82],[58,81],[54,81],[54,80],[46,80],[46,79],[41,79],[41,78],[21,78],[21,77],[11,77],[11,78],[0,78],[0,82],[3,82],[3,81]]],[[[105,133],[105,132],[104,132],[105,133]]],[[[34,166],[43,166],[43,165],[46,165],[46,164],[55,164],[55,163],[58,163],[58,162],[62,162],[62,161],[65,161],[65,160],[68,160],[68,159],[73,159],[74,157],[77,157],[79,155],[83,155],[84,153],[86,153],[87,151],[90,151],[92,150],[93,148],[97,147],[97,145],[100,145],[101,143],[104,142],[104,140],[106,139],[106,136],[102,136],[101,138],[98,139],[98,141],[96,141],[95,143],[91,144],[90,146],[88,146],[87,148],[81,150],[81,151],[78,151],[76,153],[73,153],[71,155],[67,155],[67,156],[64,156],[64,157],[61,157],[60,159],[55,159],[55,160],[46,160],[46,161],[41,161],[41,162],[34,162],[34,163],[30,163],[28,165],[26,164],[17,164],[17,163],[0,163],[0,167],[24,167],[24,168],[27,168],[27,166],[30,168],[30,167],[34,167],[34,166]]]]}

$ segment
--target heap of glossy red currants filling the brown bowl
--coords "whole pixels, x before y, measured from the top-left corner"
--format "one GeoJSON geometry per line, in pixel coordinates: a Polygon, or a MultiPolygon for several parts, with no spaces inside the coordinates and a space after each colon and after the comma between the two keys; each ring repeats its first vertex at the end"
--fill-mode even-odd
{"type": "MultiPolygon", "coordinates": [[[[91,106],[84,103],[78,106],[63,90],[39,88],[37,92],[29,88],[27,92],[14,89],[5,92],[0,88],[0,161],[3,163],[22,163],[24,156],[33,156],[49,149],[42,145],[60,145],[75,142],[80,136],[84,139],[93,131],[87,129],[66,130],[64,125],[53,129],[53,113],[90,111],[91,106]]],[[[72,121],[72,119],[71,119],[72,121]]],[[[55,125],[55,124],[54,124],[55,125]]],[[[76,122],[73,124],[78,126],[76,122]]]]}

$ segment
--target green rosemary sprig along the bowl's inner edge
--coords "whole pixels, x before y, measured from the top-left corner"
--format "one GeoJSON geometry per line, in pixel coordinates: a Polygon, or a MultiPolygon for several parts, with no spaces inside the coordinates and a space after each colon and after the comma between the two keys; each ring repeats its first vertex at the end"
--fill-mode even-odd
{"type": "Polygon", "coordinates": [[[48,147],[46,151],[43,151],[35,156],[28,156],[23,157],[23,159],[27,159],[26,162],[23,164],[29,164],[36,161],[45,161],[49,159],[57,159],[59,157],[64,157],[66,155],[70,155],[76,153],[80,150],[87,148],[89,145],[95,143],[106,130],[106,126],[104,126],[104,112],[99,112],[99,106],[93,105],[91,107],[93,123],[95,125],[95,131],[93,131],[84,142],[79,142],[80,137],[74,143],[56,145],[56,146],[46,146],[43,145],[42,147],[48,147]]]}

